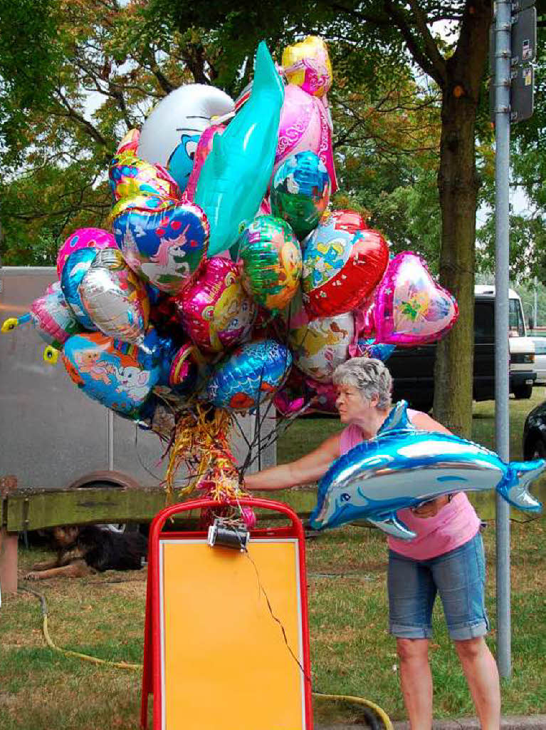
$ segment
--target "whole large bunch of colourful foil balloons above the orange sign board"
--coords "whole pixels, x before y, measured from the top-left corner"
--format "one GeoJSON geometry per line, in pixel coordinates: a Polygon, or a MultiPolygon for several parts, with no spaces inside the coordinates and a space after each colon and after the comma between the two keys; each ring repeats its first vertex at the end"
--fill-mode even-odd
{"type": "Polygon", "coordinates": [[[331,85],[320,38],[280,67],[261,43],[237,101],[187,85],[123,139],[110,230],[66,239],[58,283],[26,315],[87,396],[148,424],[195,399],[294,415],[309,397],[332,406],[347,358],[453,326],[456,302],[418,255],[389,258],[361,215],[328,210],[331,85]]]}

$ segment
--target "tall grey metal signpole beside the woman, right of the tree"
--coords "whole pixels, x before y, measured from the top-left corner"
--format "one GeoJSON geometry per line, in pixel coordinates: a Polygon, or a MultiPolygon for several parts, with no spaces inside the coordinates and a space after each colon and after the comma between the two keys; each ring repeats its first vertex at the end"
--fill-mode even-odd
{"type": "MultiPolygon", "coordinates": [[[[510,172],[510,0],[496,2],[495,18],[495,439],[503,461],[510,460],[509,437],[509,172],[510,172]]],[[[501,677],[512,672],[510,646],[510,508],[496,496],[496,661],[501,677]]]]}

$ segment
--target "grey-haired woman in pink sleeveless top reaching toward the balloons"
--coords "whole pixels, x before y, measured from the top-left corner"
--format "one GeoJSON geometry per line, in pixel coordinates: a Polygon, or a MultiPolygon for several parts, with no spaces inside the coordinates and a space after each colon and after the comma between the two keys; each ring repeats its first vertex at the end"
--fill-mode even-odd
{"type": "MultiPolygon", "coordinates": [[[[249,475],[246,488],[274,490],[315,482],[335,458],[375,437],[391,408],[389,370],[379,360],[352,358],[338,366],[333,380],[340,420],[346,428],[291,464],[249,475]]],[[[416,429],[449,433],[425,413],[407,413],[416,429]]],[[[432,728],[428,649],[438,592],[480,725],[484,730],[498,730],[499,674],[483,638],[488,618],[480,520],[464,492],[398,514],[417,536],[409,541],[389,537],[389,631],[397,639],[400,682],[411,729],[432,728]]]]}

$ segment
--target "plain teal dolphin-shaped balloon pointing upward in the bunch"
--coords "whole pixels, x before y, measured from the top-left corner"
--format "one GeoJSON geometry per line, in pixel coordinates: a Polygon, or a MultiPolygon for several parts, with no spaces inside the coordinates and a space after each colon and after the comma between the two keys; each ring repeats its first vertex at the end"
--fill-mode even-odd
{"type": "Polygon", "coordinates": [[[260,207],[273,172],[283,101],[283,82],[262,41],[249,101],[214,137],[195,190],[194,202],[211,226],[209,256],[233,245],[260,207]]]}

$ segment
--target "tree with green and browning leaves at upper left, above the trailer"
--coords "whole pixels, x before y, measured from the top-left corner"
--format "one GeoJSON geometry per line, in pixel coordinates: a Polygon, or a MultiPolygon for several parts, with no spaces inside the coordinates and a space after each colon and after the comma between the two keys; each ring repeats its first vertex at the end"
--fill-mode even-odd
{"type": "Polygon", "coordinates": [[[0,3],[1,254],[52,264],[74,228],[106,226],[106,173],[125,131],[193,78],[179,64],[184,39],[143,41],[134,4],[0,3]]]}

